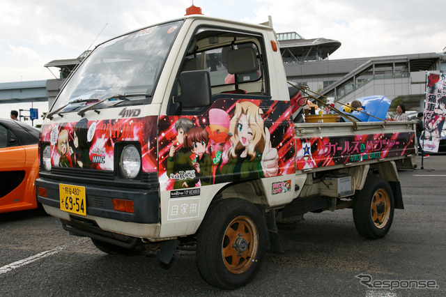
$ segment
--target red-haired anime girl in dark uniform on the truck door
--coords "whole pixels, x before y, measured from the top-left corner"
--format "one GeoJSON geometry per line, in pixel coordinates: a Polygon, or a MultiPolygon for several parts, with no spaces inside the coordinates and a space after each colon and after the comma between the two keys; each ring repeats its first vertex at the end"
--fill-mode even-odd
{"type": "Polygon", "coordinates": [[[185,145],[192,152],[190,159],[197,176],[195,181],[198,183],[200,180],[201,185],[212,183],[212,160],[207,153],[208,142],[208,132],[204,128],[194,127],[187,131],[185,145]]]}

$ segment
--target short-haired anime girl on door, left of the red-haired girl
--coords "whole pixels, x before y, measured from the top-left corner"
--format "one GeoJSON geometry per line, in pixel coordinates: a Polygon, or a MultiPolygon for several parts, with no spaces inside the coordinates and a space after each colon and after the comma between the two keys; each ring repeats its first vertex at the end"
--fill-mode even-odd
{"type": "Polygon", "coordinates": [[[174,189],[190,188],[195,186],[194,176],[190,176],[191,171],[194,172],[190,155],[192,151],[185,147],[185,134],[194,123],[190,119],[180,118],[175,123],[176,145],[172,144],[167,157],[167,176],[174,179],[174,189]]]}

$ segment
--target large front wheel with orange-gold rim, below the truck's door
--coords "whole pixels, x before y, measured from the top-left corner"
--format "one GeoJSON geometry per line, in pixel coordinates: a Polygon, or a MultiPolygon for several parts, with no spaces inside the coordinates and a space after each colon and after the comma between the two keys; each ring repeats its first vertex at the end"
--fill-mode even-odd
{"type": "Polygon", "coordinates": [[[222,199],[211,204],[197,234],[197,266],[206,282],[236,289],[259,271],[266,246],[266,222],[254,204],[222,199]]]}

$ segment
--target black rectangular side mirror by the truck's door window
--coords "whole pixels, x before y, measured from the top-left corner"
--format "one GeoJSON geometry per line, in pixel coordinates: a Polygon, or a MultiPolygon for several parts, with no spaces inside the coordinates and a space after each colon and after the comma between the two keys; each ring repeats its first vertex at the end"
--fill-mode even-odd
{"type": "Polygon", "coordinates": [[[207,70],[184,71],[180,73],[181,94],[174,102],[183,108],[203,107],[210,105],[210,76],[207,70]]]}

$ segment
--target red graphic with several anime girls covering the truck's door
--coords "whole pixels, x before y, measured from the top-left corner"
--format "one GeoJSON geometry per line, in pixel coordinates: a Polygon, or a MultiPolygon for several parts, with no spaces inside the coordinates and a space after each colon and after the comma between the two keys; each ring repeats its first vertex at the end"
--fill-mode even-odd
{"type": "Polygon", "coordinates": [[[199,116],[160,116],[163,190],[294,173],[289,102],[220,99],[199,116]]]}

